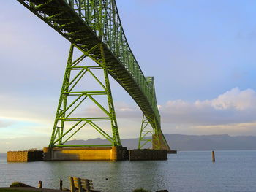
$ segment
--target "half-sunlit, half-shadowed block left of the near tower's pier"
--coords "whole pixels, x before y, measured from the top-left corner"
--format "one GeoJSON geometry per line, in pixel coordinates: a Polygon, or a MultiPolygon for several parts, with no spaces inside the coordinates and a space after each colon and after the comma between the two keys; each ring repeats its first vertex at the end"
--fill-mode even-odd
{"type": "Polygon", "coordinates": [[[42,161],[42,150],[8,151],[7,162],[42,161]]]}

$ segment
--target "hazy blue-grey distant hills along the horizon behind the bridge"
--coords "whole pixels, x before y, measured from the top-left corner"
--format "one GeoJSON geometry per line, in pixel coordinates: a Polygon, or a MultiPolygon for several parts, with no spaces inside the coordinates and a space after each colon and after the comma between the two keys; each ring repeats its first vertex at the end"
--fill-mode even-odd
{"type": "MultiPolygon", "coordinates": [[[[175,150],[256,150],[256,137],[221,135],[183,135],[166,134],[170,147],[175,150]]],[[[128,149],[138,147],[138,139],[121,139],[122,145],[128,149]]],[[[72,140],[67,145],[108,144],[106,139],[72,140]]],[[[150,147],[150,144],[146,145],[150,147]]]]}

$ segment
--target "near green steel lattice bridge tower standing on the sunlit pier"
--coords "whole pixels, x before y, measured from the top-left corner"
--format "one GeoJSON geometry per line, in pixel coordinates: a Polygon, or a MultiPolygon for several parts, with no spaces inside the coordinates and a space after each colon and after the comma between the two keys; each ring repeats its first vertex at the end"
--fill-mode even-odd
{"type": "MultiPolygon", "coordinates": [[[[83,109],[86,110],[86,109],[83,109]]],[[[86,112],[85,112],[86,114],[86,112]]],[[[64,74],[64,80],[61,88],[61,95],[57,107],[56,118],[54,120],[53,132],[50,139],[49,147],[95,147],[95,146],[120,146],[121,140],[118,134],[118,125],[116,121],[116,112],[113,105],[113,98],[110,90],[110,82],[108,79],[107,66],[105,64],[105,53],[101,43],[95,45],[89,51],[84,51],[75,44],[71,44],[69,56],[67,60],[67,67],[64,74]],[[80,52],[80,55],[74,53],[74,48],[80,52]],[[100,53],[94,55],[91,53],[100,53]],[[76,58],[75,58],[76,55],[76,58]],[[91,58],[96,65],[85,64],[86,58],[91,58]],[[102,70],[104,80],[97,77],[97,72],[102,70]],[[100,87],[100,90],[86,90],[86,86],[79,85],[80,82],[86,80],[86,74],[89,74],[100,87]],[[99,96],[107,97],[108,107],[100,103],[99,96]],[[102,117],[90,117],[81,115],[77,111],[79,107],[86,102],[94,103],[97,110],[101,111],[102,117]],[[100,127],[100,121],[108,122],[112,128],[112,135],[110,130],[106,131],[100,127]],[[105,139],[110,142],[109,145],[67,145],[69,139],[72,139],[75,134],[82,128],[91,126],[99,132],[105,139]],[[68,128],[67,128],[68,127],[68,128]]]]}

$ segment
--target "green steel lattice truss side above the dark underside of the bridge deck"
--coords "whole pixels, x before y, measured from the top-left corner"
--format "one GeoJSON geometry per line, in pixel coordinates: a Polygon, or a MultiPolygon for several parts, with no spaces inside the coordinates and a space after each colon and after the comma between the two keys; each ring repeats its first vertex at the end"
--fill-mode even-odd
{"type": "Polygon", "coordinates": [[[129,47],[114,0],[64,0],[91,27],[102,42],[127,69],[140,91],[148,99],[160,125],[160,115],[154,90],[153,77],[145,77],[129,47]]]}

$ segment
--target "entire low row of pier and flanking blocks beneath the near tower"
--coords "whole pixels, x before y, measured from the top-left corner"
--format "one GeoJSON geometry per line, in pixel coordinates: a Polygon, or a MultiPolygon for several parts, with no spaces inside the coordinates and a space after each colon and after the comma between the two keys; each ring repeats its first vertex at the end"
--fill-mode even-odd
{"type": "Polygon", "coordinates": [[[167,150],[127,150],[127,147],[45,147],[43,151],[7,152],[8,162],[120,160],[167,160],[167,150]]]}

